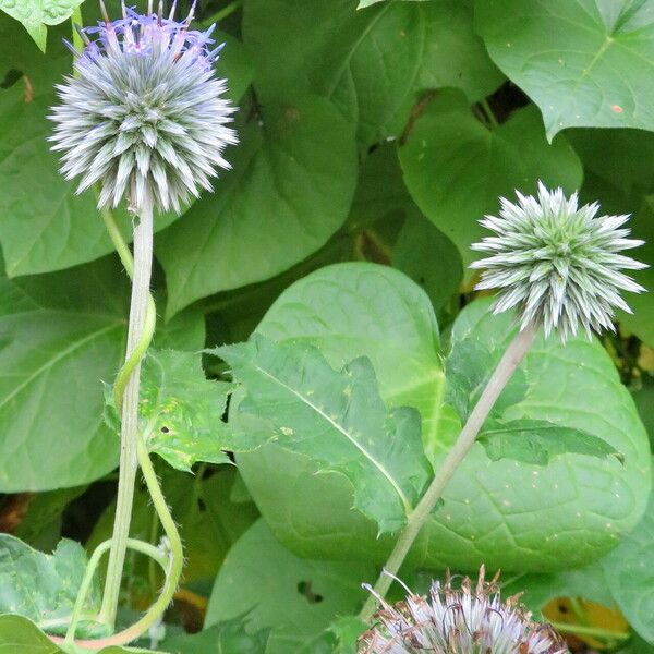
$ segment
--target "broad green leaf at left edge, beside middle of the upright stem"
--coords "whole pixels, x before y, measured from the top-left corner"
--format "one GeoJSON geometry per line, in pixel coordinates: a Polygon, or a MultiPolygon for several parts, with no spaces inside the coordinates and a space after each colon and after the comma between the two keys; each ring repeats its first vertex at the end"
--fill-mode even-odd
{"type": "Polygon", "coordinates": [[[0,278],[0,491],[88,483],[117,463],[102,382],[123,356],[128,286],[113,257],[0,278]]]}

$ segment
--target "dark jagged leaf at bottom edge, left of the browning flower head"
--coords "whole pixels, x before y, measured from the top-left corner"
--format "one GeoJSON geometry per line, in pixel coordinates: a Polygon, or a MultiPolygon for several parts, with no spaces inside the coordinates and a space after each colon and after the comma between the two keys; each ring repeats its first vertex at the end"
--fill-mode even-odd
{"type": "Polygon", "coordinates": [[[178,635],[161,643],[170,654],[265,654],[270,632],[262,629],[249,633],[245,618],[219,622],[192,635],[178,635]]]}

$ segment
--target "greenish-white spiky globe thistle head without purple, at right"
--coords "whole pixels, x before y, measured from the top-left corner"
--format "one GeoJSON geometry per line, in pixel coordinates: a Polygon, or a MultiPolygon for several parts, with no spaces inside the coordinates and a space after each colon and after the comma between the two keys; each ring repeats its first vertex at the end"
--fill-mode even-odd
{"type": "Polygon", "coordinates": [[[470,266],[483,269],[475,288],[498,290],[495,313],[516,307],[523,329],[542,324],[564,342],[580,328],[589,338],[615,330],[615,310],[631,313],[620,292],[645,290],[622,272],[646,268],[621,254],[643,243],[627,238],[629,216],[598,216],[597,203],[580,207],[577,193],[568,198],[541,182],[537,197],[516,195],[517,204],[502,197],[499,216],[480,221],[495,235],[472,245],[489,255],[470,266]]]}

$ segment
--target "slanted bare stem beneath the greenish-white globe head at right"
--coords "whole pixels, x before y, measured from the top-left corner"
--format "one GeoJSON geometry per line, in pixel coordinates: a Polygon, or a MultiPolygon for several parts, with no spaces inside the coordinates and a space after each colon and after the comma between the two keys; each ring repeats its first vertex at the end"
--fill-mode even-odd
{"type": "Polygon", "coordinates": [[[484,388],[477,403],[470,413],[463,429],[461,429],[459,438],[448,452],[445,461],[434,476],[434,480],[417,502],[417,506],[407,517],[407,525],[386,561],[384,571],[379,576],[379,579],[377,579],[373,593],[371,593],[361,609],[359,617],[363,621],[367,622],[373,616],[373,613],[375,611],[375,597],[384,597],[388,592],[388,589],[392,583],[391,576],[397,574],[420,530],[426,523],[438,499],[440,499],[445,487],[474,445],[484,421],[488,416],[488,413],[493,409],[493,405],[508,380],[511,378],[511,375],[529,351],[536,332],[537,327],[534,324],[529,325],[516,335],[507,348],[497,364],[497,367],[493,372],[491,379],[488,379],[488,384],[484,388]]]}

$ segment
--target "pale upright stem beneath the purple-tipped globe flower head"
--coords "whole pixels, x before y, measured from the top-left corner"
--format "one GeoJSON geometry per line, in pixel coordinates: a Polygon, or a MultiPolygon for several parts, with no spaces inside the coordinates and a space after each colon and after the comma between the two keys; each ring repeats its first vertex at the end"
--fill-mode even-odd
{"type": "MultiPolygon", "coordinates": [[[[111,234],[111,237],[113,239],[114,234],[111,234]]],[[[125,265],[125,253],[119,250],[119,254],[129,274],[130,267],[125,265]]],[[[109,565],[107,567],[102,608],[99,616],[100,621],[111,627],[116,623],[126,542],[132,518],[134,482],[138,467],[136,450],[141,359],[152,340],[156,319],[149,293],[152,266],[153,205],[152,198],[148,198],[141,208],[138,223],[134,227],[134,263],[131,270],[132,300],[130,305],[126,360],[114,384],[116,408],[121,415],[120,469],[113,535],[109,553],[109,565]]]]}

